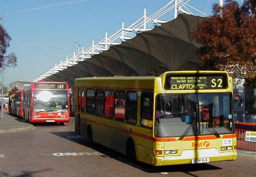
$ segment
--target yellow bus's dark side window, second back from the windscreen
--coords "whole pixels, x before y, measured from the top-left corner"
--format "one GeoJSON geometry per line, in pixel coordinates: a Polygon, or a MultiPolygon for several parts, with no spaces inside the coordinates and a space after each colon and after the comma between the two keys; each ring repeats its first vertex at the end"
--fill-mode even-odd
{"type": "Polygon", "coordinates": [[[137,123],[137,92],[127,92],[126,94],[126,122],[137,123]]]}

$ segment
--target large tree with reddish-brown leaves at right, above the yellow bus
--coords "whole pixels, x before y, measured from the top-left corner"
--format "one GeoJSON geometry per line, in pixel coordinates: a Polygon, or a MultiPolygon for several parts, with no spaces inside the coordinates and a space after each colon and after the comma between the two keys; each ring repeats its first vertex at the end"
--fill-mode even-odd
{"type": "Polygon", "coordinates": [[[242,6],[226,0],[214,4],[213,15],[197,23],[192,38],[201,45],[197,57],[201,69],[226,70],[256,88],[256,0],[242,6]]]}

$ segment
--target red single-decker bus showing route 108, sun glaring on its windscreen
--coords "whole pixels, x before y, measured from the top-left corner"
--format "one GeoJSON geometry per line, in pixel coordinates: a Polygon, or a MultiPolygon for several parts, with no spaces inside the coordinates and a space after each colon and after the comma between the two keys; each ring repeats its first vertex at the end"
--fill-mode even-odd
{"type": "Polygon", "coordinates": [[[66,82],[36,82],[24,88],[23,118],[26,122],[69,122],[69,85],[66,82]]]}

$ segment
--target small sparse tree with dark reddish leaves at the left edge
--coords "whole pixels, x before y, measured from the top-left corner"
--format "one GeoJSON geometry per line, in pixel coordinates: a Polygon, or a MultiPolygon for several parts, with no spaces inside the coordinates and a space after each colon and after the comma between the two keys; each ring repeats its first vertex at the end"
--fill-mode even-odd
{"type": "Polygon", "coordinates": [[[4,27],[0,25],[0,72],[6,67],[15,67],[17,65],[17,57],[14,53],[5,55],[11,40],[12,38],[5,31],[4,27]]]}

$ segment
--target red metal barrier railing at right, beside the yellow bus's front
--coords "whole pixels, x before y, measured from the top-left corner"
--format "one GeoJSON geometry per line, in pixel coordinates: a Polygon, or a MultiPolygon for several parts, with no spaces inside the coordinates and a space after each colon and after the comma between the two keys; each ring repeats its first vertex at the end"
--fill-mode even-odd
{"type": "Polygon", "coordinates": [[[246,131],[251,131],[251,130],[235,129],[235,131],[237,132],[237,148],[256,150],[256,142],[245,140],[246,131]]]}

